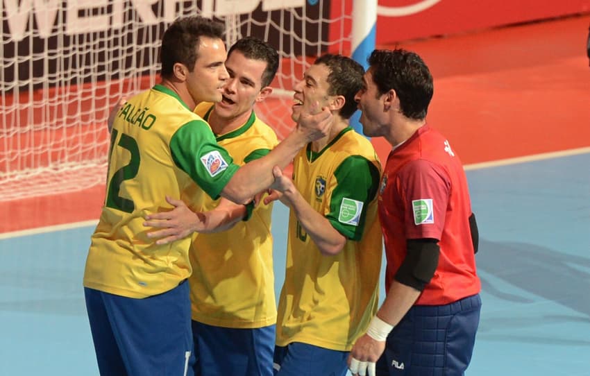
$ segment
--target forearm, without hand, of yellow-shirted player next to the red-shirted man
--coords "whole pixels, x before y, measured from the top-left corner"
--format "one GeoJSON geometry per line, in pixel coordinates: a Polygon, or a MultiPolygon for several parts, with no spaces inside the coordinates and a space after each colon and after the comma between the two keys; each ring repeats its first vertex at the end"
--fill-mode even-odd
{"type": "Polygon", "coordinates": [[[297,189],[285,191],[283,200],[289,203],[301,227],[319,251],[326,256],[337,255],[346,244],[346,237],[338,232],[325,216],[316,212],[297,189]]]}

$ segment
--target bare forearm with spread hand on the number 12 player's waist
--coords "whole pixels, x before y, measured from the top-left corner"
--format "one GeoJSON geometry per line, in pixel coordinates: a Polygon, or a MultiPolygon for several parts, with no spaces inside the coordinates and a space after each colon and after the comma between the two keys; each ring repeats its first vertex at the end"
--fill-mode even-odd
{"type": "Polygon", "coordinates": [[[246,207],[221,198],[219,205],[208,212],[192,212],[182,200],[166,197],[174,206],[169,212],[146,216],[144,226],[159,230],[151,231],[148,237],[158,239],[157,244],[167,244],[183,239],[193,232],[221,232],[233,228],[246,215],[246,207]]]}

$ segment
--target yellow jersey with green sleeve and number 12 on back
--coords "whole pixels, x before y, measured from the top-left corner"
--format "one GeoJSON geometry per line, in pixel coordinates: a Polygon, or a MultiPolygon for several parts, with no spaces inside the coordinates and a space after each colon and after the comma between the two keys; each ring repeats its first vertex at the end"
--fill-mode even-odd
{"type": "Polygon", "coordinates": [[[84,286],[129,298],[169,291],[191,273],[191,239],[158,246],[146,236],[144,216],[171,208],[166,196],[178,199],[197,184],[201,195],[217,198],[238,166],[208,124],[162,85],[117,112],[109,153],[84,286]]]}

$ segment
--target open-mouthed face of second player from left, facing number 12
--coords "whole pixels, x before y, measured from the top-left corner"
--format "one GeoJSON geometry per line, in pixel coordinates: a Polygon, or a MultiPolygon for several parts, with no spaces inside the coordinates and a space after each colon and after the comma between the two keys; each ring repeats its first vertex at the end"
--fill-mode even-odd
{"type": "Polygon", "coordinates": [[[224,85],[223,98],[215,104],[216,116],[224,120],[249,116],[254,103],[266,96],[262,87],[266,68],[264,60],[248,59],[242,52],[232,51],[226,60],[229,78],[224,85]]]}

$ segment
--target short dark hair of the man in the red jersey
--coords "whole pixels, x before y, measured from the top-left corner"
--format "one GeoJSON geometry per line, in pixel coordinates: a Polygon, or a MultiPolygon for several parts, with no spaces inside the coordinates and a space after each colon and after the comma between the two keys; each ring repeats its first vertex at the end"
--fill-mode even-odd
{"type": "Polygon", "coordinates": [[[394,89],[404,116],[424,119],[434,85],[430,70],[422,58],[404,49],[375,50],[368,61],[379,95],[394,89]]]}

